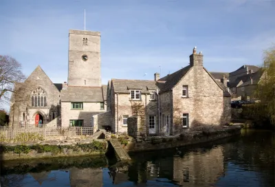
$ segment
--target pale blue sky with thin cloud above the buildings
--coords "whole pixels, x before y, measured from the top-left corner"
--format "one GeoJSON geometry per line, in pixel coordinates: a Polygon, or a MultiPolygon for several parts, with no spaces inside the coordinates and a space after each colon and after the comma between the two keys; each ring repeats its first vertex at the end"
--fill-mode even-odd
{"type": "Polygon", "coordinates": [[[193,47],[210,72],[261,65],[275,45],[275,0],[1,0],[0,54],[29,76],[40,65],[67,81],[69,30],[101,33],[101,76],[153,80],[189,63],[193,47]]]}

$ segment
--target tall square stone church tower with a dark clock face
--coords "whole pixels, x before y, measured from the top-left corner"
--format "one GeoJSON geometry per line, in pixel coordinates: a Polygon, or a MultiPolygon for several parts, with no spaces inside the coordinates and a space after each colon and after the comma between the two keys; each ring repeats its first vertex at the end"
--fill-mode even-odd
{"type": "Polygon", "coordinates": [[[68,86],[101,87],[100,32],[69,30],[68,86]]]}

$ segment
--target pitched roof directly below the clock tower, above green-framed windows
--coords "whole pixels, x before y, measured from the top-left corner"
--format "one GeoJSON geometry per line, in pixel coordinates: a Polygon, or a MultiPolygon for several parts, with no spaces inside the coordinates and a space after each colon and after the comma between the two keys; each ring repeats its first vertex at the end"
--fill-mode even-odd
{"type": "Polygon", "coordinates": [[[103,102],[102,87],[68,86],[61,90],[62,102],[103,102]]]}

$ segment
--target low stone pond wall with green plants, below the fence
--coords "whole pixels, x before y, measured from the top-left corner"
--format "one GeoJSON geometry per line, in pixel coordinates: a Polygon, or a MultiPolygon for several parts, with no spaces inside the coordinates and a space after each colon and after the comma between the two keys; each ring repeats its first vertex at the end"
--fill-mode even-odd
{"type": "Polygon", "coordinates": [[[107,142],[105,140],[96,140],[96,144],[94,144],[93,141],[94,139],[87,138],[85,140],[72,139],[30,142],[24,143],[23,145],[5,143],[1,144],[0,160],[99,155],[107,151],[107,142]]]}

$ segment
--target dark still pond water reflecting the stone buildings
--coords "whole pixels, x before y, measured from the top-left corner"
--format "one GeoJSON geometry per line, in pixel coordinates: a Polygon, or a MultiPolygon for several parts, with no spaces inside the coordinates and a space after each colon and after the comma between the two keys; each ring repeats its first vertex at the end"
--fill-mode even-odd
{"type": "Polygon", "coordinates": [[[215,143],[131,155],[33,159],[1,164],[1,187],[275,186],[275,133],[242,131],[215,143]]]}

